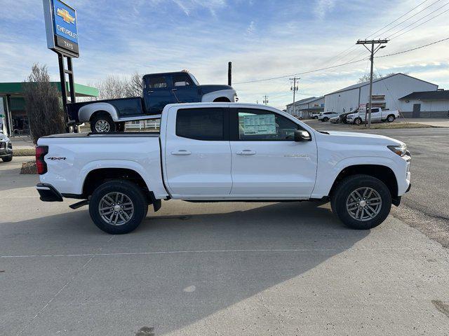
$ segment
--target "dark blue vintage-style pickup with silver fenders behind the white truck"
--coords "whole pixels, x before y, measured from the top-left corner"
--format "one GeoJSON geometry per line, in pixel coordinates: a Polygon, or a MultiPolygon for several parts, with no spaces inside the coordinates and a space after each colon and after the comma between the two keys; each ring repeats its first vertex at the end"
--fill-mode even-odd
{"type": "Polygon", "coordinates": [[[229,85],[199,85],[187,71],[151,73],[142,78],[142,97],[67,104],[69,124],[91,123],[92,132],[121,132],[126,121],[161,113],[167,104],[235,102],[229,85]]]}

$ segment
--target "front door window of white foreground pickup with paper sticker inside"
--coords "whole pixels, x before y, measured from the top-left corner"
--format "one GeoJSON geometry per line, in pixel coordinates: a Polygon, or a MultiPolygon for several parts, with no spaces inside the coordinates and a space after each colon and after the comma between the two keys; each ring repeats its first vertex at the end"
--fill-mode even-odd
{"type": "Polygon", "coordinates": [[[238,139],[293,141],[298,125],[278,113],[258,109],[237,109],[238,139]]]}

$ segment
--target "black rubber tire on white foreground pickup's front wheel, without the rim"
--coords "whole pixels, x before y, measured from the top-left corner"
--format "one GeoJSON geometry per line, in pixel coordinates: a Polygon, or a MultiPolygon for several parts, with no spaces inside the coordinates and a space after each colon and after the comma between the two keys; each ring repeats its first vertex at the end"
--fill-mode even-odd
{"type": "MultiPolygon", "coordinates": [[[[357,202],[357,200],[354,201],[357,202]]],[[[360,203],[356,204],[356,209],[359,204],[360,203]]],[[[369,230],[375,228],[377,225],[380,225],[389,215],[391,209],[391,193],[385,183],[373,176],[364,174],[351,175],[342,179],[342,181],[338,183],[330,197],[330,207],[337,218],[339,218],[340,221],[342,221],[349,228],[356,230],[369,230]],[[375,214],[375,211],[371,212],[371,209],[373,208],[370,208],[369,204],[367,204],[368,209],[370,209],[370,213],[372,215],[375,214],[373,218],[362,221],[360,219],[355,219],[351,216],[351,214],[349,214],[349,210],[347,209],[347,201],[351,201],[351,199],[349,199],[349,197],[351,197],[351,193],[358,188],[371,188],[380,196],[381,204],[379,205],[379,209],[377,209],[377,214],[375,214]]],[[[363,216],[363,213],[366,210],[362,207],[359,209],[362,209],[361,216],[363,216]]]]}

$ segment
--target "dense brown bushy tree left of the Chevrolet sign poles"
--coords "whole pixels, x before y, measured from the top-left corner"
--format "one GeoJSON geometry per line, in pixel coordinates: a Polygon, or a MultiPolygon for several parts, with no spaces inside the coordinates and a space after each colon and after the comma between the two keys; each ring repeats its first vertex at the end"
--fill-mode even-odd
{"type": "Polygon", "coordinates": [[[33,64],[31,73],[23,83],[23,89],[34,144],[40,137],[64,133],[65,115],[60,94],[50,82],[47,66],[33,64]]]}

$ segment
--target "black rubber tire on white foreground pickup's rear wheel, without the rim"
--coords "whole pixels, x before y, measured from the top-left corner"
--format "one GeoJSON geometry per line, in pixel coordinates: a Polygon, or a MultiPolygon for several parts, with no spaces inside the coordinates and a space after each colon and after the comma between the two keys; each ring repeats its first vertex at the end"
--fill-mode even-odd
{"type": "MultiPolygon", "coordinates": [[[[114,207],[116,205],[119,205],[119,203],[114,204],[114,207]]],[[[123,235],[124,233],[135,230],[147,216],[147,212],[147,197],[145,197],[142,189],[135,183],[126,180],[112,180],[103,183],[94,190],[91,200],[89,201],[89,214],[91,215],[93,223],[95,223],[100,230],[111,235],[123,235]],[[125,223],[113,225],[105,221],[100,214],[100,202],[103,197],[111,193],[121,193],[128,197],[128,200],[132,202],[133,214],[131,214],[130,219],[125,223]]],[[[115,217],[112,218],[114,219],[115,217]]],[[[116,215],[116,218],[119,218],[119,214],[116,215]]]]}

